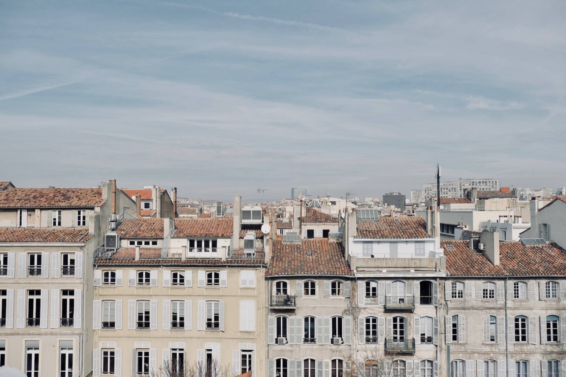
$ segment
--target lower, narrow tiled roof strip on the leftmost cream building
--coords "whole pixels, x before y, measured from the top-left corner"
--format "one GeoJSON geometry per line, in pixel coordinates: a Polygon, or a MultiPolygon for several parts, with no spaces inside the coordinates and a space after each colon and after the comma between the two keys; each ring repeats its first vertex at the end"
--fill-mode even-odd
{"type": "Polygon", "coordinates": [[[93,236],[87,228],[0,228],[0,242],[86,242],[93,236]]]}

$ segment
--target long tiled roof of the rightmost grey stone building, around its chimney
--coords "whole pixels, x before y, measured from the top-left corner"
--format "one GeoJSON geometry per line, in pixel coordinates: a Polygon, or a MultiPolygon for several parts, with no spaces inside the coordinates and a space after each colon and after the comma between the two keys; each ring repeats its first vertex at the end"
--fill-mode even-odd
{"type": "Polygon", "coordinates": [[[446,267],[453,276],[566,276],[566,250],[554,242],[523,245],[499,242],[499,266],[468,248],[468,241],[441,241],[446,267]],[[445,246],[453,245],[456,250],[445,246]]]}

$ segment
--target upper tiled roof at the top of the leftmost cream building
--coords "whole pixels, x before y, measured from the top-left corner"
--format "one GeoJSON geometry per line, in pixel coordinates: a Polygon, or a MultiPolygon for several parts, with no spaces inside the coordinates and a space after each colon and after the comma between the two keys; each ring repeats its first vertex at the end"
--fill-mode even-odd
{"type": "Polygon", "coordinates": [[[0,191],[2,208],[78,208],[102,205],[99,188],[8,188],[0,191]]]}

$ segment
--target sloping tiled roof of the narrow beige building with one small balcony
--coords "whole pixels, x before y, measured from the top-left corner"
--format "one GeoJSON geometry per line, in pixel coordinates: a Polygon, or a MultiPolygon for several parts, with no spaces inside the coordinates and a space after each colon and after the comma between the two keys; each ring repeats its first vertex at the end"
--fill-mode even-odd
{"type": "Polygon", "coordinates": [[[352,275],[352,271],[339,242],[316,238],[287,243],[277,236],[265,272],[265,276],[275,275],[352,275]]]}

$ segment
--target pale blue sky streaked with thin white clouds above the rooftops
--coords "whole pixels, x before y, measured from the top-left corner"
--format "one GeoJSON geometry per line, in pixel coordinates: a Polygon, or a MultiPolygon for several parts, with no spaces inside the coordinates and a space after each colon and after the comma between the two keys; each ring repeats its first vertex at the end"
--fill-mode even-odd
{"type": "Polygon", "coordinates": [[[566,185],[564,1],[0,0],[0,181],[566,185]]]}

